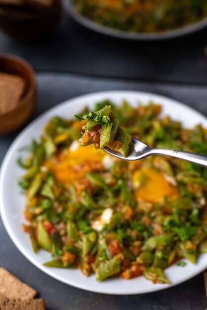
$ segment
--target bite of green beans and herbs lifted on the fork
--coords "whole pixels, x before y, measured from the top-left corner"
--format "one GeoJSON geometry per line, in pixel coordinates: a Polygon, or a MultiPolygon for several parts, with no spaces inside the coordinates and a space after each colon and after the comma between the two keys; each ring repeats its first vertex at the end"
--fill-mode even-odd
{"type": "Polygon", "coordinates": [[[95,113],[91,111],[88,115],[75,117],[78,120],[87,119],[86,126],[83,127],[85,132],[79,139],[82,147],[94,143],[96,150],[109,147],[127,157],[131,136],[118,127],[119,121],[111,111],[111,105],[106,105],[95,113]]]}

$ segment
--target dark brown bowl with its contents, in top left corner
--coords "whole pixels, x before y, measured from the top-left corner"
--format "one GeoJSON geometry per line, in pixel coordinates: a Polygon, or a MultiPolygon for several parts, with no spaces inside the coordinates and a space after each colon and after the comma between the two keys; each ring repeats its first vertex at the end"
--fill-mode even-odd
{"type": "Polygon", "coordinates": [[[41,37],[59,21],[61,0],[0,0],[0,29],[20,40],[41,37]]]}

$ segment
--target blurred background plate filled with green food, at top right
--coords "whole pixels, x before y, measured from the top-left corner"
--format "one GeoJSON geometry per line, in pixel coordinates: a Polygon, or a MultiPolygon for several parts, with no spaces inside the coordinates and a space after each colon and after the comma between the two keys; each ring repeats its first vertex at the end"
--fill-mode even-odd
{"type": "MultiPolygon", "coordinates": [[[[172,7],[168,7],[166,2],[163,2],[162,6],[159,3],[159,12],[157,10],[156,14],[152,8],[155,4],[153,1],[148,1],[148,8],[144,14],[140,13],[141,9],[140,12],[138,11],[138,7],[132,7],[134,10],[137,9],[136,13],[132,10],[132,15],[127,14],[125,8],[122,11],[119,7],[123,1],[115,1],[118,3],[116,8],[112,7],[115,2],[99,1],[104,5],[94,4],[92,1],[92,4],[89,5],[88,1],[84,2],[84,0],[64,0],[64,6],[69,14],[83,26],[105,35],[123,39],[171,39],[195,33],[207,27],[207,3],[201,0],[196,5],[195,1],[189,0],[185,3],[173,4],[172,7]]],[[[140,4],[136,3],[136,5],[140,4]]],[[[130,5],[132,4],[128,4],[128,6],[130,5]]]]}

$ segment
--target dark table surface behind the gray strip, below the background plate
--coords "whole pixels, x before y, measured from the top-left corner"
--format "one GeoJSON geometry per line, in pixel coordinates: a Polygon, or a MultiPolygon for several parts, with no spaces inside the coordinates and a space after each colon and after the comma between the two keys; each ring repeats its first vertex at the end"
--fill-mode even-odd
{"type": "Polygon", "coordinates": [[[173,41],[130,42],[84,29],[66,13],[42,40],[16,42],[0,32],[0,53],[22,56],[37,71],[164,83],[207,83],[206,45],[207,30],[173,41]]]}

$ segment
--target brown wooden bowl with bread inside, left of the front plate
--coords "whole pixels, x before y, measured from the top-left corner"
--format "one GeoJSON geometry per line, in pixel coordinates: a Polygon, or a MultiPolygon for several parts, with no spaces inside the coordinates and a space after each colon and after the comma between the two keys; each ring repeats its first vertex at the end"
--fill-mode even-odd
{"type": "Polygon", "coordinates": [[[22,58],[0,55],[0,134],[22,126],[36,104],[36,78],[22,58]]]}

